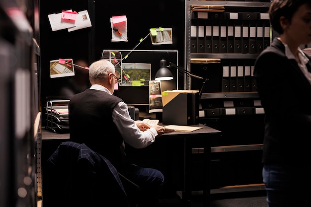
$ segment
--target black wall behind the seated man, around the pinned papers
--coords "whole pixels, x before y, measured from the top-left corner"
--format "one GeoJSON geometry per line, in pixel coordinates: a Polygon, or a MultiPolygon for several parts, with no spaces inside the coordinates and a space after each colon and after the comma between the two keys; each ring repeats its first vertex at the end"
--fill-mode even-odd
{"type": "MultiPolygon", "coordinates": [[[[42,109],[44,110],[48,99],[70,98],[70,95],[62,92],[65,91],[64,88],[78,93],[89,87],[87,71],[78,67],[75,67],[75,76],[51,79],[51,60],[72,58],[74,63],[84,63],[88,66],[101,58],[104,49],[134,49],[140,43],[140,39],[149,34],[150,28],[172,28],[173,44],[152,45],[148,37],[136,49],[178,50],[178,65],[184,67],[184,4],[184,0],[157,0],[152,3],[139,0],[54,0],[41,3],[39,15],[42,109]],[[72,32],[68,32],[67,29],[53,32],[48,14],[68,9],[77,12],[87,9],[92,27],[72,32]],[[110,18],[119,15],[127,16],[128,42],[111,42],[110,18]]],[[[182,78],[180,79],[182,81],[182,78]]]]}

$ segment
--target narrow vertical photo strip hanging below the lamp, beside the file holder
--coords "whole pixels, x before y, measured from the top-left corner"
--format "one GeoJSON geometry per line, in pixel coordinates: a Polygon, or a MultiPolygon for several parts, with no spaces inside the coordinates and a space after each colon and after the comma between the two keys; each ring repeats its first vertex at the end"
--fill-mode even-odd
{"type": "Polygon", "coordinates": [[[162,112],[161,81],[149,81],[149,113],[162,112]]]}

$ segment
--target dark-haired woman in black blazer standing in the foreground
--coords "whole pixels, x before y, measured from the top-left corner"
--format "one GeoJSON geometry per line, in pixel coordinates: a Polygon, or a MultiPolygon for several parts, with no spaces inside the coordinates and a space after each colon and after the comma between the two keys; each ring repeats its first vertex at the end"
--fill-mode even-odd
{"type": "Polygon", "coordinates": [[[279,33],[255,62],[265,111],[263,182],[268,207],[311,207],[311,0],[273,0],[279,33]]]}

